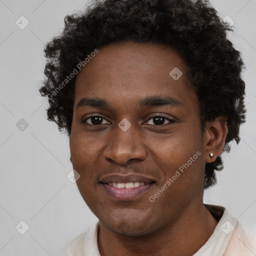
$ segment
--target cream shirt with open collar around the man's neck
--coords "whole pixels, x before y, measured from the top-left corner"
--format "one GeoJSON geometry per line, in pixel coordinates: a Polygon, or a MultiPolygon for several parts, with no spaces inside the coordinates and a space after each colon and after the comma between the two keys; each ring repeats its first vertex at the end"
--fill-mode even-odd
{"type": "MultiPolygon", "coordinates": [[[[191,256],[256,256],[256,241],[249,237],[225,208],[204,204],[219,219],[206,243],[191,256]]],[[[99,221],[71,240],[58,256],[100,256],[97,246],[99,221]]]]}

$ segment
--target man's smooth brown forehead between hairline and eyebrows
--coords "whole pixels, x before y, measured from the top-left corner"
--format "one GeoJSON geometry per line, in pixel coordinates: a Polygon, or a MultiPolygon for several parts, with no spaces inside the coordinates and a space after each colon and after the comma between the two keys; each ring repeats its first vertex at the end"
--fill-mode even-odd
{"type": "Polygon", "coordinates": [[[125,97],[181,96],[191,93],[187,66],[170,46],[156,43],[117,42],[99,49],[76,77],[79,95],[125,97]],[[175,95],[174,95],[175,94],[175,95]]]}

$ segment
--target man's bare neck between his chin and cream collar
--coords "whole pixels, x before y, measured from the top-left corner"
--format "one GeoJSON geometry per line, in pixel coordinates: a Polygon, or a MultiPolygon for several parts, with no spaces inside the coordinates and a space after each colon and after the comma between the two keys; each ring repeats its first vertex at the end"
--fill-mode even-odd
{"type": "Polygon", "coordinates": [[[201,203],[157,231],[141,236],[126,236],[110,231],[101,221],[98,249],[101,256],[193,255],[211,236],[217,220],[201,203]]]}

